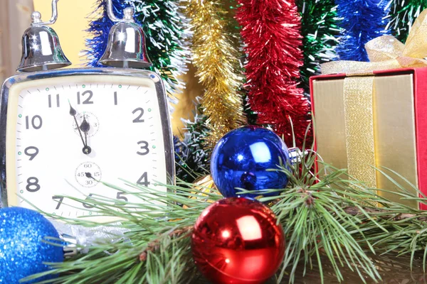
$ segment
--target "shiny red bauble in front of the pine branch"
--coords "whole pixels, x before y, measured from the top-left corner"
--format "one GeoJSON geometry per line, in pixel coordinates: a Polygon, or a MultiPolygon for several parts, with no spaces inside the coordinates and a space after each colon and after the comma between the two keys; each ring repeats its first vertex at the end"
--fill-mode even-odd
{"type": "Polygon", "coordinates": [[[201,273],[214,283],[263,283],[278,270],[285,236],[273,212],[255,200],[233,197],[204,209],[191,249],[201,273]]]}

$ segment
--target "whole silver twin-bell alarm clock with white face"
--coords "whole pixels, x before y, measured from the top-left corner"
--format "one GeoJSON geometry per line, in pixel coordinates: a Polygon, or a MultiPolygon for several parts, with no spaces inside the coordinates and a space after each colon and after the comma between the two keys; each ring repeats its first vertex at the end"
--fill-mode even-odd
{"type": "Polygon", "coordinates": [[[48,27],[56,1],[51,21],[33,13],[22,73],[1,87],[0,205],[96,216],[94,196],[125,204],[137,200],[137,185],[166,192],[174,183],[167,97],[159,75],[129,68],[151,65],[133,9],[117,19],[108,5],[117,23],[100,62],[115,67],[56,70],[70,64],[48,27]]]}

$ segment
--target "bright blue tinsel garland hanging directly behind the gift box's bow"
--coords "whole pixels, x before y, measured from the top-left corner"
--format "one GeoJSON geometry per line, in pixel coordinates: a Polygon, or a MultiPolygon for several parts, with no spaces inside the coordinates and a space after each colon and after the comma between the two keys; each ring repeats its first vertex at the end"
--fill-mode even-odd
{"type": "Polygon", "coordinates": [[[341,21],[341,38],[337,46],[339,60],[368,61],[364,45],[371,39],[387,33],[389,13],[386,0],[336,0],[341,21]]]}

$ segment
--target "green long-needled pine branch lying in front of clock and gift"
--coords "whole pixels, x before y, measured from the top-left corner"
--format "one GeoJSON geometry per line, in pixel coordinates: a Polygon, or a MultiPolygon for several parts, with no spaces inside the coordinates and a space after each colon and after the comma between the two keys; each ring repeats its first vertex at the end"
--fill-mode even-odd
{"type": "MultiPolygon", "coordinates": [[[[272,203],[271,209],[286,235],[285,259],[277,275],[278,282],[294,281],[302,276],[299,271],[305,274],[313,263],[317,264],[321,279],[325,278],[324,269],[328,267],[337,280],[344,280],[344,269],[359,275],[361,281],[381,280],[368,252],[390,257],[407,255],[411,266],[416,253],[426,251],[427,212],[391,202],[377,195],[375,189],[354,180],[346,170],[330,165],[324,165],[327,174],[317,180],[317,173],[310,174],[314,162],[315,155],[309,155],[305,163],[281,168],[289,175],[289,187],[270,190],[279,193],[276,197],[260,198],[261,202],[272,203]]],[[[393,175],[400,178],[388,170],[379,171],[387,178],[393,175]]],[[[191,229],[201,211],[209,206],[206,200],[215,201],[221,195],[186,182],[169,185],[169,192],[129,185],[137,188],[138,192],[132,195],[141,202],[117,204],[117,200],[101,196],[93,200],[93,206],[101,214],[124,220],[120,224],[127,231],[124,238],[114,243],[94,244],[87,254],[53,263],[54,269],[47,273],[60,276],[44,283],[191,283],[199,277],[191,257],[191,229]]],[[[404,190],[395,194],[426,202],[404,190]]],[[[85,219],[59,219],[95,226],[85,219]]],[[[426,266],[426,253],[423,266],[426,266]]]]}

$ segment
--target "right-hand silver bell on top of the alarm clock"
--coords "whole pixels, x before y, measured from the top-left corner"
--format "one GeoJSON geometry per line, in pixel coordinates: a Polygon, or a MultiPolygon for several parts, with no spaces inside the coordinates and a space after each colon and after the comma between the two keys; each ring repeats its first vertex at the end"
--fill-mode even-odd
{"type": "Polygon", "coordinates": [[[127,7],[123,10],[124,17],[116,18],[112,11],[112,1],[107,1],[107,13],[112,26],[108,35],[108,44],[99,62],[102,65],[125,68],[146,68],[152,66],[145,48],[145,36],[142,27],[135,23],[135,10],[127,7]]]}

